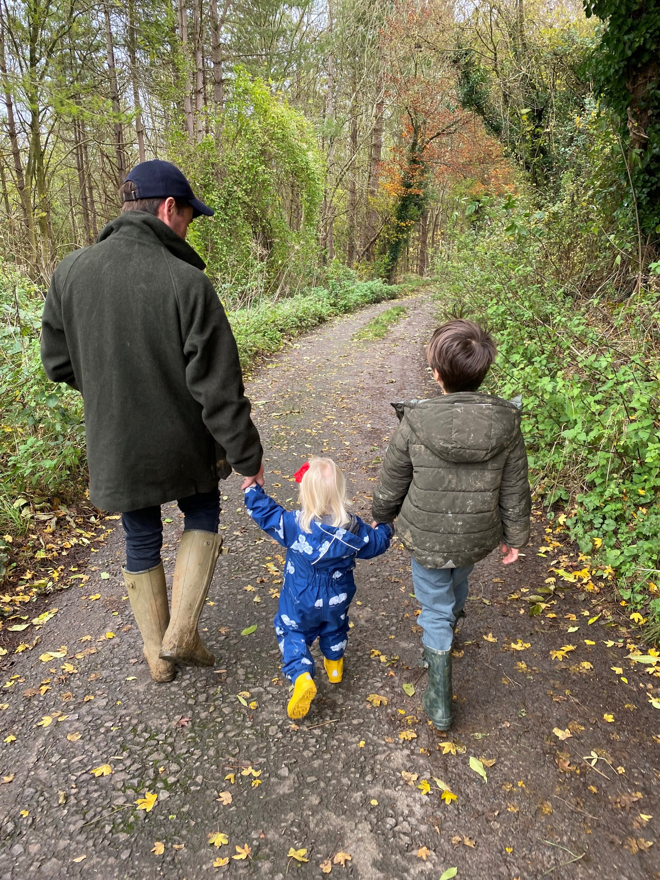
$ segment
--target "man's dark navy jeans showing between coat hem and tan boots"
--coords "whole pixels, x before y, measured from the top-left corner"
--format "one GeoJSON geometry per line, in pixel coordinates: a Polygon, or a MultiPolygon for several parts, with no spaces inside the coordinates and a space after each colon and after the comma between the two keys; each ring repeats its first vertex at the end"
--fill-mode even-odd
{"type": "MultiPolygon", "coordinates": [[[[217,489],[188,495],[187,498],[180,498],[177,504],[184,514],[185,530],[217,532],[220,522],[220,493],[217,489]]],[[[154,506],[128,510],[121,514],[121,524],[126,532],[126,570],[135,573],[158,565],[163,546],[160,508],[154,506]]]]}

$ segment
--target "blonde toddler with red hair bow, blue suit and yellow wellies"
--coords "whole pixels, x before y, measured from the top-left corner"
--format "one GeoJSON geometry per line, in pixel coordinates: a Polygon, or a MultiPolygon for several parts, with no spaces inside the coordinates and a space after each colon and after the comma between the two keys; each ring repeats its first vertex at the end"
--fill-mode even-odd
{"type": "Polygon", "coordinates": [[[303,718],[316,694],[309,646],[319,639],[327,677],[333,684],[340,682],[356,559],[385,553],[392,527],[373,529],[348,514],[346,482],[332,458],[312,458],[296,480],[301,510],[284,510],[258,485],[246,488],[245,500],[254,522],[287,547],[274,623],[282,671],[294,683],[289,717],[303,718]]]}

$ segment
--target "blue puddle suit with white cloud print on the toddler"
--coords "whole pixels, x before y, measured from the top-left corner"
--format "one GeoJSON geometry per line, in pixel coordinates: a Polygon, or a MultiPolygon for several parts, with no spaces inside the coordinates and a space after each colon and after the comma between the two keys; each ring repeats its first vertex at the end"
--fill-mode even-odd
{"type": "Polygon", "coordinates": [[[246,489],[246,508],[256,524],[287,547],[284,583],[275,614],[275,633],[282,652],[282,671],[295,681],[303,672],[314,676],[309,646],[319,639],[328,660],[339,660],[348,641],[348,605],[356,594],[356,559],[371,559],[390,546],[392,527],[375,529],[351,517],[348,529],[312,521],[311,532],[298,525],[300,511],[290,513],[260,486],[246,489]]]}

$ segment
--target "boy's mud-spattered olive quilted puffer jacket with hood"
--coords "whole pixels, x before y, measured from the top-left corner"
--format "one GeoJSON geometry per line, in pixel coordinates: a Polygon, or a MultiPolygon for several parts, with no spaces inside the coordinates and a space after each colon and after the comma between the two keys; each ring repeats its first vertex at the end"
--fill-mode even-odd
{"type": "Polygon", "coordinates": [[[479,392],[394,405],[392,436],[373,495],[373,517],[426,568],[457,568],[500,541],[530,537],[530,487],[520,412],[479,392]]]}

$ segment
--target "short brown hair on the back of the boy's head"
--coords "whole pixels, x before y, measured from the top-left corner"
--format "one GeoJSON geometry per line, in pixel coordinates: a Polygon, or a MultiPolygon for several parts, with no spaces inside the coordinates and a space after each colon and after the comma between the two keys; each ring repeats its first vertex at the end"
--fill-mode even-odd
{"type": "Polygon", "coordinates": [[[426,359],[437,370],[445,392],[476,391],[495,360],[495,340],[478,324],[463,318],[437,328],[426,347],[426,359]]]}

